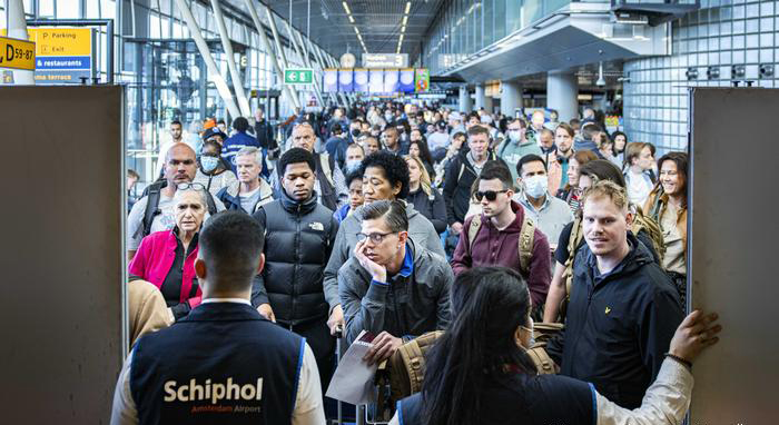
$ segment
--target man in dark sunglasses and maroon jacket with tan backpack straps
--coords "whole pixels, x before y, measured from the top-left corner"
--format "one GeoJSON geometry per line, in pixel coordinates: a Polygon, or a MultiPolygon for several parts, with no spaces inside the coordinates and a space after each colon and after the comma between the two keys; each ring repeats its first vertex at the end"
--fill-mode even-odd
{"type": "MultiPolygon", "coordinates": [[[[471,226],[475,217],[463,225],[463,231],[454,250],[452,268],[458,275],[470,268],[481,266],[509,267],[527,280],[533,299],[533,318],[540,319],[552,280],[549,241],[538,228],[532,229],[532,248],[527,269],[521,267],[520,238],[530,230],[525,226],[525,212],[520,204],[512,200],[514,185],[511,172],[501,162],[489,164],[479,176],[476,199],[482,214],[476,216],[481,225],[471,226]],[[473,240],[471,240],[473,239],[473,240]]],[[[532,223],[532,221],[531,221],[532,223]]],[[[535,227],[535,224],[532,224],[535,227]]]]}

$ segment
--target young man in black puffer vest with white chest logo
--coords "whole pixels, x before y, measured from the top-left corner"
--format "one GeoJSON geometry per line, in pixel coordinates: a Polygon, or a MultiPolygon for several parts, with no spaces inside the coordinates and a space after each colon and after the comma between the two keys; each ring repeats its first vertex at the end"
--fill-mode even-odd
{"type": "Polygon", "coordinates": [[[270,320],[303,336],[310,345],[323,388],[333,373],[335,339],[327,326],[338,293],[326,294],[324,269],[338,231],[333,211],[317,204],[314,156],[300,148],[278,162],[280,198],[264,205],[254,218],[266,229],[265,269],[257,276],[253,299],[270,320]]]}

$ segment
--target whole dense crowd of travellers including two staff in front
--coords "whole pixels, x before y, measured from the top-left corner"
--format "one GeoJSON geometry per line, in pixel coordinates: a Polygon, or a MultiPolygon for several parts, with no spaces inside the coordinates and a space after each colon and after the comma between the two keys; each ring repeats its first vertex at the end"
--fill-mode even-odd
{"type": "MultiPolygon", "coordinates": [[[[443,330],[393,423],[673,424],[718,340],[687,312],[688,155],[602,113],[357,102],[185,135],[128,194],[132,350],[112,424],[323,424],[364,362],[443,330]],[[534,324],[555,374],[527,350],[534,324]]],[[[139,175],[128,170],[128,189],[139,175]]]]}

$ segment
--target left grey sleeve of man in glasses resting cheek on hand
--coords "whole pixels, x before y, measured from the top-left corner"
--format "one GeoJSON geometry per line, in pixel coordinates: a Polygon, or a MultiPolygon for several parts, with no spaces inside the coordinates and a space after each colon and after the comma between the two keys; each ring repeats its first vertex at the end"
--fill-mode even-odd
{"type": "Polygon", "coordinates": [[[385,302],[389,285],[377,281],[356,281],[357,275],[338,270],[338,294],[346,322],[346,344],[351,345],[361,332],[378,335],[384,330],[385,302]]]}

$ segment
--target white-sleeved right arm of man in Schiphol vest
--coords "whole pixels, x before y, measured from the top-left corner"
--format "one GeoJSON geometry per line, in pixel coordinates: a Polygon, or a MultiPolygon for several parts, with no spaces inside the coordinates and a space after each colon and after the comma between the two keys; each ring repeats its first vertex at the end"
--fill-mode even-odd
{"type": "Polygon", "coordinates": [[[321,425],[325,423],[319,370],[316,367],[314,352],[305,343],[292,423],[293,425],[321,425]]]}

